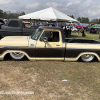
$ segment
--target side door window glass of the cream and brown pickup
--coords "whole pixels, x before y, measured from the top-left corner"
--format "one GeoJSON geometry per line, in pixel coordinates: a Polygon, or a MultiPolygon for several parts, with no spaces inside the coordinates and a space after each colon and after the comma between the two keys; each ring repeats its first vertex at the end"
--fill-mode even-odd
{"type": "Polygon", "coordinates": [[[40,41],[44,41],[44,37],[48,38],[48,42],[59,42],[59,32],[56,31],[44,31],[40,41]]]}

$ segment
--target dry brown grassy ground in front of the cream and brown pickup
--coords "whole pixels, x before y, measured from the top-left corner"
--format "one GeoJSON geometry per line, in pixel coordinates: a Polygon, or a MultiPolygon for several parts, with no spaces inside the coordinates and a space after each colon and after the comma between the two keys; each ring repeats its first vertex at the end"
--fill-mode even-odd
{"type": "Polygon", "coordinates": [[[0,93],[20,92],[0,94],[0,100],[99,100],[99,64],[0,61],[0,93]]]}

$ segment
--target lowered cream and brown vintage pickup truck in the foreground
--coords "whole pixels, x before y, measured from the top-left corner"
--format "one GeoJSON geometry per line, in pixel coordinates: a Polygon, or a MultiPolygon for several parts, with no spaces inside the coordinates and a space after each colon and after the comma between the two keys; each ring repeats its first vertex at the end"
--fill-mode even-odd
{"type": "Polygon", "coordinates": [[[65,39],[56,27],[39,27],[31,36],[8,36],[0,40],[0,60],[9,54],[13,60],[100,61],[100,42],[89,39],[65,39]]]}

